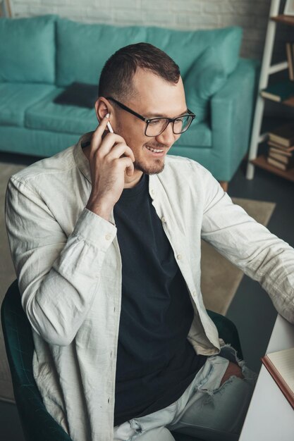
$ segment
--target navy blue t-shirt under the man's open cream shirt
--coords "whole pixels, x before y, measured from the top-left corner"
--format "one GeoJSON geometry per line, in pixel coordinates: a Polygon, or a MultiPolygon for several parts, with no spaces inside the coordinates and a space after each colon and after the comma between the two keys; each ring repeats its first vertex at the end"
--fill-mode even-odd
{"type": "Polygon", "coordinates": [[[114,206],[123,266],[114,426],[175,402],[207,359],[187,340],[192,304],[148,182],[114,206]]]}

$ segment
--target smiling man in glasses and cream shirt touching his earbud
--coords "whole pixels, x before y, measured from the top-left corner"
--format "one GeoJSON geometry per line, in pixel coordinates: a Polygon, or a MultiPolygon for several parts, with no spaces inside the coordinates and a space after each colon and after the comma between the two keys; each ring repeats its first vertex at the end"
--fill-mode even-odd
{"type": "Polygon", "coordinates": [[[292,322],[294,251],[200,164],[166,156],[194,115],[164,52],[117,51],[95,108],[97,130],[8,183],[44,404],[74,441],[172,441],[171,431],[236,440],[255,375],[220,348],[200,240],[259,280],[292,322]]]}

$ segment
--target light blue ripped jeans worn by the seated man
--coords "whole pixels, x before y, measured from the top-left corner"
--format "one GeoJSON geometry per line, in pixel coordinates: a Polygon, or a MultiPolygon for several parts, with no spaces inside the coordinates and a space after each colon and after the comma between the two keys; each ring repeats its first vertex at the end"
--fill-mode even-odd
{"type": "Polygon", "coordinates": [[[114,441],[175,441],[180,432],[207,441],[238,440],[257,380],[226,344],[209,356],[183,395],[165,409],[114,428],[114,441]],[[244,378],[231,376],[220,386],[228,362],[237,362],[244,378]]]}

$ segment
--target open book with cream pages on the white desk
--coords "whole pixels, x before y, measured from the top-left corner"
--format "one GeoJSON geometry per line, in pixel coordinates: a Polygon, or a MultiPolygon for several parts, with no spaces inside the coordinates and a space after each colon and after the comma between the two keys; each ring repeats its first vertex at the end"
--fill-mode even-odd
{"type": "Polygon", "coordinates": [[[271,352],[262,357],[262,363],[294,409],[294,347],[271,352]]]}

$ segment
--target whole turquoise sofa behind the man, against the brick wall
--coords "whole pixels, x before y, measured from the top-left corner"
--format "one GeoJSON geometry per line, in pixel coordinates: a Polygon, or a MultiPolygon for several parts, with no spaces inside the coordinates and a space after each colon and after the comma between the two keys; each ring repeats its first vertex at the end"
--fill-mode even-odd
{"type": "Polygon", "coordinates": [[[73,82],[95,85],[121,46],[149,42],[180,66],[197,118],[172,147],[231,180],[245,156],[258,66],[239,57],[242,30],[180,31],[77,23],[56,15],[0,18],[0,151],[51,156],[94,130],[94,108],[56,104],[73,82]]]}

